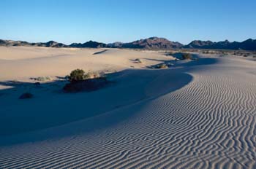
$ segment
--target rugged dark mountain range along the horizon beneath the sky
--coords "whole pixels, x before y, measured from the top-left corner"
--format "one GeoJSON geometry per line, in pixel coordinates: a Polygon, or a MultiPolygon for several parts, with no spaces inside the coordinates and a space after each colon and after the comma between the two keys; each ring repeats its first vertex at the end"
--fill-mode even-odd
{"type": "Polygon", "coordinates": [[[29,43],[23,41],[11,41],[1,40],[0,46],[34,46],[34,47],[78,47],[78,48],[129,48],[129,49],[146,49],[146,50],[171,50],[171,49],[214,49],[214,50],[256,50],[256,40],[247,39],[244,42],[211,42],[211,41],[192,41],[191,43],[184,45],[179,42],[172,42],[165,38],[151,37],[148,39],[140,39],[135,42],[114,42],[111,44],[104,44],[100,42],[89,41],[86,43],[73,43],[73,44],[61,44],[58,42],[50,41],[45,43],[29,43]]]}

